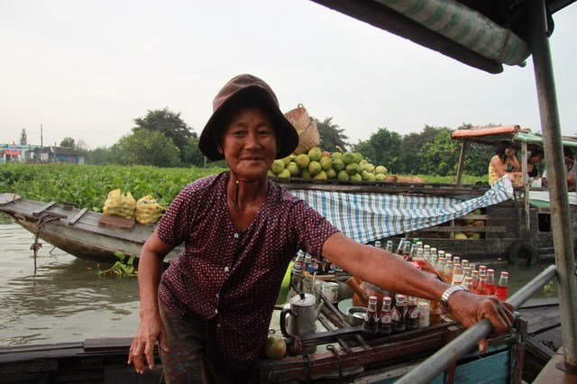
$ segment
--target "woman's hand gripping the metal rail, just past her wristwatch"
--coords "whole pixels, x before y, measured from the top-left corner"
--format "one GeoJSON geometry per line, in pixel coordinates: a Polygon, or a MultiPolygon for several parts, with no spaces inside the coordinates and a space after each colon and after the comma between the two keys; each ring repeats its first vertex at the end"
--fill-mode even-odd
{"type": "MultiPolygon", "coordinates": [[[[473,295],[458,291],[449,297],[448,304],[451,314],[467,328],[486,318],[493,325],[493,334],[502,334],[510,331],[515,322],[513,306],[500,301],[496,296],[473,295]]],[[[486,339],[479,342],[481,353],[487,351],[487,345],[486,339]]]]}

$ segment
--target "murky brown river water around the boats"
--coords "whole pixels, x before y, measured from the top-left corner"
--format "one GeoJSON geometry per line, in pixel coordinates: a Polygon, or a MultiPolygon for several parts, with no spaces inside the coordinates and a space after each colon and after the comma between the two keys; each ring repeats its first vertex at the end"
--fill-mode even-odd
{"type": "MultiPolygon", "coordinates": [[[[33,241],[32,233],[0,214],[0,346],[133,336],[139,324],[136,279],[99,276],[96,262],[42,241],[34,272],[33,241]]],[[[546,265],[492,267],[496,276],[509,271],[514,292],[546,265]]],[[[542,290],[537,297],[555,296],[555,291],[542,290]]]]}

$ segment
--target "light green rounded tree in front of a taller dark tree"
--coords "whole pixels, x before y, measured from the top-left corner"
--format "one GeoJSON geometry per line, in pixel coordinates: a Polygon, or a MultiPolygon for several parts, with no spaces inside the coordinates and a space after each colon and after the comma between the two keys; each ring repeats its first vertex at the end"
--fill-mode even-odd
{"type": "Polygon", "coordinates": [[[180,150],[172,140],[160,132],[139,130],[123,136],[114,147],[114,160],[125,165],[153,165],[176,167],[180,150]]]}

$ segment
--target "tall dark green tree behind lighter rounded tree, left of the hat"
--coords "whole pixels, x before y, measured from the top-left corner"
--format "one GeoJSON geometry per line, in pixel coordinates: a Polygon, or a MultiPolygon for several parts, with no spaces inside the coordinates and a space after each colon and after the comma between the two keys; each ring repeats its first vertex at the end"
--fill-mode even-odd
{"type": "Polygon", "coordinates": [[[176,114],[166,107],[148,111],[146,116],[138,117],[133,121],[136,123],[133,133],[147,131],[164,134],[179,148],[180,160],[186,162],[184,156],[187,153],[188,143],[191,137],[197,136],[197,133],[194,133],[192,128],[180,118],[180,113],[176,114]]]}

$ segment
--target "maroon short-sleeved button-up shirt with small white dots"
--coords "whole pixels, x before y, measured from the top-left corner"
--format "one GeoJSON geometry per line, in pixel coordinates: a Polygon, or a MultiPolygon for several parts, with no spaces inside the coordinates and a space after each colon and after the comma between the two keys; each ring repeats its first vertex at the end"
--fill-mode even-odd
{"type": "Polygon", "coordinates": [[[183,188],[160,220],[160,240],[185,243],[160,280],[159,297],[177,315],[197,316],[224,369],[246,370],[259,357],[289,261],[299,249],[321,258],[338,230],[303,200],[270,182],[265,202],[246,229],[226,207],[228,172],[183,188]]]}

